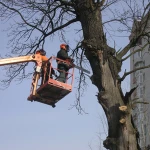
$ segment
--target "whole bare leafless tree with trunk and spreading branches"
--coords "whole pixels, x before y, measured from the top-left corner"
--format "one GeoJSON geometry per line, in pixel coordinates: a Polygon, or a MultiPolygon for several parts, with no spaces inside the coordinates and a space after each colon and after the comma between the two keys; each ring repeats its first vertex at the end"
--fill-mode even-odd
{"type": "MultiPolygon", "coordinates": [[[[0,1],[0,17],[4,20],[15,19],[14,24],[10,27],[12,54],[34,53],[38,47],[44,46],[47,37],[54,36],[56,32],[64,37],[64,31],[68,26],[80,23],[81,26],[77,30],[80,35],[83,34],[83,38],[78,41],[73,55],[76,56],[80,65],[83,65],[86,58],[92,69],[91,81],[98,89],[97,99],[103,107],[108,121],[108,137],[103,143],[106,149],[140,149],[136,130],[131,121],[131,106],[129,105],[131,94],[135,88],[123,95],[121,82],[127,75],[150,66],[125,72],[123,77],[119,77],[118,74],[123,61],[130,57],[130,54],[128,55],[130,48],[135,47],[141,37],[147,39],[149,37],[149,30],[145,30],[148,28],[149,5],[147,0],[140,2],[136,0],[0,1]],[[145,16],[146,19],[144,19],[145,16]],[[143,21],[139,22],[137,19],[143,21]],[[135,26],[134,30],[132,24],[135,26]],[[117,28],[114,26],[112,31],[110,28],[113,25],[116,25],[117,28]],[[133,33],[130,42],[119,51],[115,46],[112,48],[108,45],[107,41],[110,39],[106,38],[105,34],[112,36],[115,30],[122,34],[126,33],[126,35],[130,32],[133,33]],[[36,37],[34,36],[35,32],[36,37]],[[126,106],[126,112],[119,109],[120,106],[123,108],[126,106]],[[122,117],[124,117],[124,121],[120,122],[122,117]]],[[[137,51],[142,51],[148,44],[149,41],[137,51]]],[[[4,83],[10,84],[16,76],[28,76],[25,72],[26,65],[17,65],[13,68],[10,66],[7,72],[9,80],[5,80],[4,83]]],[[[84,77],[81,74],[79,83],[85,81],[84,77]]],[[[80,89],[81,86],[78,91],[80,89]]],[[[79,99],[77,105],[80,105],[79,99]]]]}

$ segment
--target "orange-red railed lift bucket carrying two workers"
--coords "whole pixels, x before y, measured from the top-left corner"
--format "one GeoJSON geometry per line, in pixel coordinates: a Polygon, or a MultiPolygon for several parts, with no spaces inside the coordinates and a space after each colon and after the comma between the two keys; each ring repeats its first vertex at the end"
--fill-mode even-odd
{"type": "Polygon", "coordinates": [[[72,84],[74,79],[74,67],[72,66],[68,72],[65,72],[66,82],[63,83],[58,81],[57,77],[54,78],[51,75],[52,68],[55,71],[55,73],[56,72],[58,73],[59,71],[57,69],[56,61],[66,63],[67,65],[72,65],[67,61],[60,60],[56,57],[51,57],[47,63],[47,67],[45,67],[46,69],[42,76],[42,83],[38,88],[35,88],[35,86],[37,87],[38,84],[37,81],[39,80],[39,75],[34,76],[32,81],[31,94],[28,97],[29,101],[37,101],[55,107],[55,103],[63,99],[66,95],[68,95],[72,91],[72,84]],[[50,70],[49,72],[48,69],[50,70]],[[48,73],[48,79],[46,77],[47,73],[48,73]]]}

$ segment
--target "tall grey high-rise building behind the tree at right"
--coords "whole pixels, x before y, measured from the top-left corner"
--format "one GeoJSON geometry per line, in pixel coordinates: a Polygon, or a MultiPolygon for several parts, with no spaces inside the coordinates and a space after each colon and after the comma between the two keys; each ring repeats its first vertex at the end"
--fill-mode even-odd
{"type": "MultiPolygon", "coordinates": [[[[147,18],[149,18],[149,13],[141,21],[135,20],[129,38],[130,40],[138,33],[139,26],[140,29],[150,32],[150,19],[147,18]],[[148,20],[148,23],[146,20],[148,20]],[[145,26],[146,23],[147,25],[145,26]]],[[[131,48],[130,53],[138,51],[144,47],[148,41],[150,41],[150,38],[145,36],[141,37],[137,42],[137,46],[131,48]]],[[[147,65],[150,65],[150,44],[146,45],[142,51],[138,51],[130,57],[130,70],[147,65]]],[[[132,100],[136,103],[133,109],[133,119],[140,133],[139,144],[141,148],[144,148],[150,145],[150,104],[140,102],[150,103],[150,68],[132,73],[130,81],[131,89],[138,86],[132,95],[132,100]]]]}

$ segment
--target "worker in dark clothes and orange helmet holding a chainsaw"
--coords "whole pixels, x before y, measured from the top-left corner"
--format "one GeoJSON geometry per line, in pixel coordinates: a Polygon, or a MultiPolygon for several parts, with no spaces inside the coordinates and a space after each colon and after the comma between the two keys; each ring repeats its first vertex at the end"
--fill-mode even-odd
{"type": "MultiPolygon", "coordinates": [[[[70,62],[73,63],[73,59],[71,59],[68,56],[68,52],[69,52],[69,45],[66,44],[61,44],[60,45],[60,50],[57,53],[57,58],[61,59],[61,60],[69,60],[70,62]]],[[[58,71],[60,73],[59,77],[57,78],[58,81],[65,83],[66,82],[66,77],[67,77],[67,72],[68,70],[71,68],[70,65],[63,63],[62,61],[58,60],[58,71]]]]}

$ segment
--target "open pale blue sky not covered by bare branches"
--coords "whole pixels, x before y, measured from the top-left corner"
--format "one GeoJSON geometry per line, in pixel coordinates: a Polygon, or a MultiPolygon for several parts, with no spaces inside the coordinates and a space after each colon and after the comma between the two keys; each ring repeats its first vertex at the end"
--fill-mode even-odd
{"type": "MultiPolygon", "coordinates": [[[[7,25],[0,23],[2,56],[9,51],[9,48],[6,48],[8,42],[6,32],[2,32],[7,25]]],[[[47,56],[56,55],[61,43],[58,39],[55,38],[46,44],[47,56]]],[[[123,47],[128,41],[127,38],[115,40],[118,47],[123,47]]],[[[74,41],[71,45],[74,45],[74,41]]],[[[129,61],[123,68],[129,69],[129,61]]],[[[0,71],[0,79],[3,79],[5,72],[2,67],[0,71]]],[[[124,89],[129,88],[128,80],[124,84],[124,89]]],[[[21,84],[13,82],[8,89],[0,90],[0,149],[87,150],[91,145],[93,150],[97,150],[100,145],[98,136],[101,135],[103,140],[107,133],[100,119],[104,117],[104,113],[95,97],[97,89],[90,80],[87,82],[89,87],[82,99],[82,107],[88,114],[83,115],[78,115],[75,108],[69,110],[75,101],[75,87],[72,93],[57,103],[56,108],[27,101],[31,79],[24,80],[21,84]]]]}

